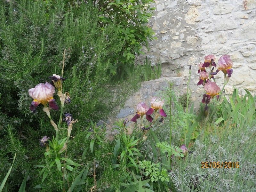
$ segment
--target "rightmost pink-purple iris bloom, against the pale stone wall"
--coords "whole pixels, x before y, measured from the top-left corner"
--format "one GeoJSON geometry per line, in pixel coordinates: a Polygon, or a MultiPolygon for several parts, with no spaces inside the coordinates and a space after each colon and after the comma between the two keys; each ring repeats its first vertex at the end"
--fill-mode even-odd
{"type": "Polygon", "coordinates": [[[222,71],[225,76],[228,74],[228,77],[231,77],[231,74],[233,72],[232,69],[233,62],[230,59],[229,55],[222,55],[218,61],[218,69],[215,73],[211,73],[212,75],[216,75],[219,71],[222,71]]]}

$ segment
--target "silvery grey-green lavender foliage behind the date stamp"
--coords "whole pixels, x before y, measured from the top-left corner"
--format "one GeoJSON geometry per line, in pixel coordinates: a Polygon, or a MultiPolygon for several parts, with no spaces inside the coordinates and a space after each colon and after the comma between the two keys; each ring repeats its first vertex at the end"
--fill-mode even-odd
{"type": "Polygon", "coordinates": [[[255,191],[256,128],[233,129],[199,135],[193,152],[186,160],[177,160],[169,174],[178,191],[255,191]],[[203,161],[239,162],[240,167],[201,169],[203,161]]]}

